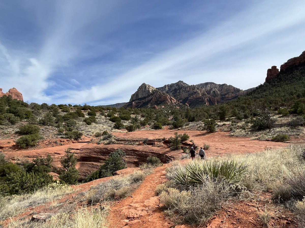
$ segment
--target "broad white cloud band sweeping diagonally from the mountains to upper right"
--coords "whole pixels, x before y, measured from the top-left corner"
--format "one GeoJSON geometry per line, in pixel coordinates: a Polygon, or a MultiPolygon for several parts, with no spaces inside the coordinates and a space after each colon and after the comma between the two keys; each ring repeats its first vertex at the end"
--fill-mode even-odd
{"type": "MultiPolygon", "coordinates": [[[[271,66],[271,59],[276,62],[285,61],[290,54],[296,53],[296,50],[298,53],[301,52],[302,41],[295,37],[305,35],[305,31],[301,27],[294,33],[294,37],[290,37],[295,39],[298,45],[285,53],[281,53],[279,47],[272,45],[276,41],[268,40],[269,36],[274,39],[273,34],[278,32],[285,37],[287,36],[286,29],[305,22],[301,5],[305,6],[305,3],[298,1],[295,4],[274,5],[273,1],[263,2],[208,32],[202,31],[203,34],[181,43],[178,47],[157,54],[144,64],[135,64],[133,69],[121,75],[114,75],[113,80],[104,85],[93,86],[77,92],[66,91],[64,94],[55,94],[53,98],[60,102],[69,100],[69,98],[88,102],[107,100],[121,94],[121,97],[112,102],[122,102],[128,101],[131,93],[142,82],[157,87],[181,79],[190,84],[216,81],[217,83],[233,84],[243,89],[246,89],[246,86],[257,86],[258,82],[264,82],[266,66],[271,66]],[[245,50],[238,50],[241,46],[244,46],[245,50]],[[259,46],[265,46],[266,49],[252,57],[251,53],[255,53],[257,48],[260,49],[259,46]],[[278,51],[268,50],[268,46],[278,49],[278,51]],[[213,60],[214,56],[219,58],[216,61],[230,63],[232,58],[230,55],[234,58],[235,52],[240,55],[239,52],[243,53],[246,49],[249,49],[247,56],[241,55],[238,59],[243,63],[242,67],[230,67],[229,64],[224,64],[225,68],[221,65],[213,66],[214,68],[207,66],[213,65],[210,60],[213,60]],[[270,51],[272,55],[268,54],[270,51]],[[264,62],[267,60],[269,62],[264,62]],[[245,77],[249,77],[249,80],[244,80],[245,77]],[[62,96],[64,97],[61,98],[62,96]]],[[[286,45],[287,42],[279,44],[286,45]]]]}

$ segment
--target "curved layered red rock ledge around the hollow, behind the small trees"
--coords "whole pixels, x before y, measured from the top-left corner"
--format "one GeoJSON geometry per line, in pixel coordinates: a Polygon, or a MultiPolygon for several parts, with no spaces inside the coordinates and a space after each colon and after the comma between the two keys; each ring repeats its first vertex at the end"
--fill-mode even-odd
{"type": "MultiPolygon", "coordinates": [[[[14,150],[5,155],[7,159],[14,161],[16,157],[32,160],[36,157],[47,157],[48,154],[50,154],[53,159],[52,165],[60,168],[60,159],[63,157],[64,151],[67,148],[71,148],[71,152],[74,152],[77,157],[76,168],[78,169],[81,178],[84,178],[91,172],[99,169],[109,157],[109,154],[116,149],[125,151],[126,157],[124,157],[124,160],[128,168],[139,167],[140,164],[146,162],[146,158],[149,156],[158,157],[162,163],[168,163],[174,159],[173,156],[175,156],[173,151],[167,147],[152,147],[149,145],[133,146],[124,144],[98,145],[82,141],[37,150],[14,150]]],[[[177,156],[181,156],[181,154],[177,156]]]]}

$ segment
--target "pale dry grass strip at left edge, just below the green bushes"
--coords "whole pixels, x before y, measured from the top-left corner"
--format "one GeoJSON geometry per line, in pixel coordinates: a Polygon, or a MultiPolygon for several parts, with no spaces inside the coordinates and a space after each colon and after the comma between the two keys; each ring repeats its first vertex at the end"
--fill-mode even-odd
{"type": "Polygon", "coordinates": [[[16,216],[31,206],[38,206],[46,202],[59,199],[74,190],[66,185],[60,185],[55,189],[38,190],[33,194],[12,195],[0,198],[0,219],[16,216]]]}

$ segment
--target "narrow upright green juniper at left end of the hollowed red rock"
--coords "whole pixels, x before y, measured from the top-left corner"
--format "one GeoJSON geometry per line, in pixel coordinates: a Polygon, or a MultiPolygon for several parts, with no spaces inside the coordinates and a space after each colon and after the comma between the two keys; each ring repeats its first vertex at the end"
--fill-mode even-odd
{"type": "Polygon", "coordinates": [[[59,179],[65,181],[67,184],[76,184],[79,178],[78,170],[75,168],[77,158],[74,153],[71,153],[71,148],[65,150],[64,156],[60,159],[61,174],[59,179]]]}

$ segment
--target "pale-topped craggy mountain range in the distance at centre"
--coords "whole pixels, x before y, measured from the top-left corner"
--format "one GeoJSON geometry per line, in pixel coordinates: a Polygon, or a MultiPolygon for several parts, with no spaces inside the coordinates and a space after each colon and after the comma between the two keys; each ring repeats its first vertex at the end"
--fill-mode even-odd
{"type": "Polygon", "coordinates": [[[154,88],[143,83],[125,107],[154,107],[154,105],[216,105],[245,94],[239,88],[231,85],[218,85],[213,82],[198,85],[188,85],[183,81],[154,88]]]}

